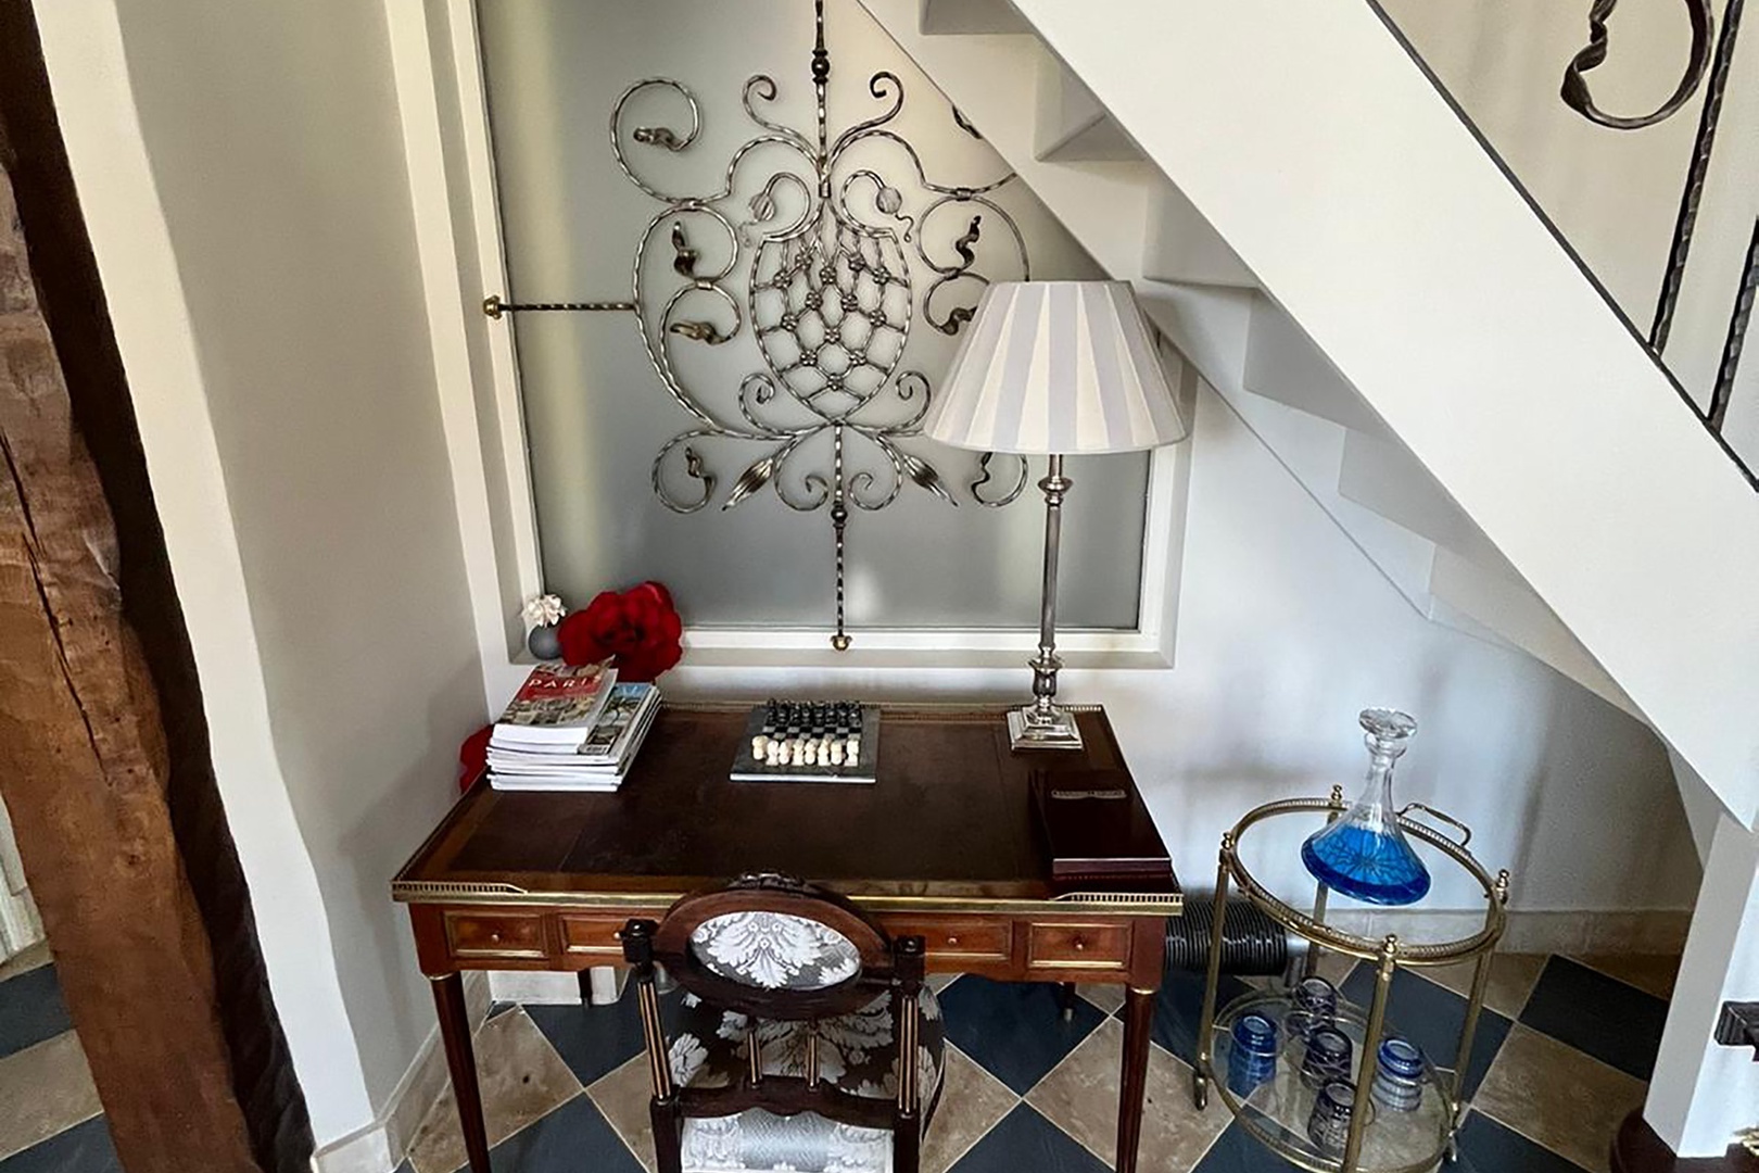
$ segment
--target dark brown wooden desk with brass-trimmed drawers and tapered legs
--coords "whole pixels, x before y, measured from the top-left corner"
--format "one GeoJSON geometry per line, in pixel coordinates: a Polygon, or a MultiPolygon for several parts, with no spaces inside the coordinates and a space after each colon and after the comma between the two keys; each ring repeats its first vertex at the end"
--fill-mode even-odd
{"type": "Polygon", "coordinates": [[[748,707],[667,707],[614,795],[459,800],[392,881],[410,906],[473,1173],[489,1143],[459,973],[623,962],[617,930],[744,872],[834,888],[887,932],[920,934],[931,973],[1124,985],[1117,1168],[1136,1166],[1149,1025],[1161,985],[1164,874],[1057,892],[1029,798],[1034,769],[1124,769],[1099,710],[1087,749],[1011,753],[1001,709],[887,709],[872,786],[732,783],[748,707]]]}

